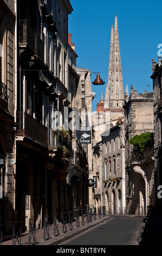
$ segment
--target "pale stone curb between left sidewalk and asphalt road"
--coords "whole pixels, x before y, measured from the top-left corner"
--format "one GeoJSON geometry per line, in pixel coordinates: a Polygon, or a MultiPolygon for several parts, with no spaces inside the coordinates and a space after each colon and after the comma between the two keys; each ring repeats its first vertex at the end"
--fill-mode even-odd
{"type": "Polygon", "coordinates": [[[102,220],[100,220],[100,221],[97,221],[97,222],[93,221],[92,223],[89,223],[87,226],[81,226],[77,229],[67,231],[67,233],[61,234],[56,237],[52,237],[50,240],[37,243],[37,245],[59,245],[60,243],[65,242],[65,241],[73,238],[76,235],[80,235],[81,233],[87,231],[88,229],[93,228],[96,225],[99,225],[111,218],[112,217],[108,216],[108,217],[102,218],[102,220]]]}

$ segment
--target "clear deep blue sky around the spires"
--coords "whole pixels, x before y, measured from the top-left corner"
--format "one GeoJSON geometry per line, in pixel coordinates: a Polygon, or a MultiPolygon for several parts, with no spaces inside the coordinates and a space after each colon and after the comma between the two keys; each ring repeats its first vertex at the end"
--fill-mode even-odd
{"type": "Polygon", "coordinates": [[[104,86],[92,84],[96,93],[92,111],[96,110],[101,93],[105,95],[111,26],[114,26],[115,14],[118,17],[124,90],[128,84],[130,92],[133,84],[138,93],[149,92],[149,89],[152,92],[152,59],[158,62],[158,45],[162,44],[162,2],[70,0],[70,3],[74,10],[69,15],[68,32],[72,33],[72,42],[79,56],[76,65],[92,71],[92,82],[97,72],[105,81],[104,86]]]}

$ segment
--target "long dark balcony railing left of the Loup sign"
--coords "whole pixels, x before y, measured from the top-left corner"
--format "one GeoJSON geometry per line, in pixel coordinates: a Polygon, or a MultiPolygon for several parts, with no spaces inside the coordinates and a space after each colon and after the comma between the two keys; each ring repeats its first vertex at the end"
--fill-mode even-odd
{"type": "Polygon", "coordinates": [[[17,112],[16,134],[48,147],[48,128],[25,112],[17,112]]]}

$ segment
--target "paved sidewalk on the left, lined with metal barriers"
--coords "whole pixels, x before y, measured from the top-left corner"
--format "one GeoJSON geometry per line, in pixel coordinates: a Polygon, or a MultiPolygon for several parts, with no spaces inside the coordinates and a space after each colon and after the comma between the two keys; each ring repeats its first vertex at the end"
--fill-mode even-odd
{"type": "MultiPolygon", "coordinates": [[[[54,236],[54,225],[49,226],[49,233],[46,230],[46,240],[44,241],[44,229],[38,229],[36,230],[36,245],[59,245],[60,243],[67,241],[71,239],[72,237],[81,234],[82,232],[85,232],[86,230],[95,227],[96,225],[99,225],[102,222],[105,222],[109,220],[111,217],[110,216],[105,216],[99,218],[98,215],[96,215],[96,220],[93,222],[86,223],[86,218],[85,218],[85,224],[82,225],[82,221],[80,218],[80,227],[76,227],[76,221],[73,222],[73,229],[69,230],[69,223],[67,223],[67,231],[63,233],[62,230],[62,224],[59,223],[59,235],[54,236]],[[48,234],[49,234],[49,239],[48,239],[48,234]]],[[[65,228],[64,228],[65,230],[65,228]]],[[[56,232],[57,234],[57,232],[56,232]]],[[[34,245],[34,240],[33,236],[31,236],[31,245],[34,245]]],[[[20,243],[20,237],[18,239],[14,240],[15,245],[19,245],[20,243]]],[[[12,237],[10,240],[3,241],[2,245],[13,245],[12,237]]],[[[29,234],[22,234],[21,236],[21,245],[29,245],[29,234]]]]}

